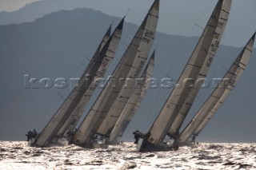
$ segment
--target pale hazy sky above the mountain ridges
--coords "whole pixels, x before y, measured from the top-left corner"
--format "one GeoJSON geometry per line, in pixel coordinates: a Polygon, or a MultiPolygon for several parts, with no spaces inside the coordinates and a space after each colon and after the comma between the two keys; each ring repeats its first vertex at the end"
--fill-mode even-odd
{"type": "MultiPolygon", "coordinates": [[[[34,1],[38,0],[0,0],[0,10],[18,10],[26,3],[34,1]]],[[[130,9],[126,22],[139,25],[153,2],[154,0],[61,0],[58,4],[60,8],[65,4],[75,4],[70,6],[70,10],[86,7],[121,18],[130,9]]],[[[174,35],[200,36],[200,27],[206,26],[217,2],[218,0],[161,0],[158,31],[174,35]]],[[[221,43],[237,47],[245,45],[256,30],[255,17],[256,0],[233,0],[221,43]]]]}

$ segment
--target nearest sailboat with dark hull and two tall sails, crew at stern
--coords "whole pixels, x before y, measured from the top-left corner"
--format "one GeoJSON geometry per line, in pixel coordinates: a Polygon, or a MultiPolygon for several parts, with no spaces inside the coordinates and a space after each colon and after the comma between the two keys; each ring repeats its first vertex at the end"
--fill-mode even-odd
{"type": "MultiPolygon", "coordinates": [[[[175,138],[200,89],[218,49],[230,12],[232,0],[219,0],[211,14],[194,52],[191,54],[181,76],[163,105],[150,131],[139,141],[138,151],[166,151],[172,149],[164,143],[167,136],[175,138]],[[192,88],[191,88],[192,87],[192,88]]],[[[174,148],[178,149],[178,148],[174,148]]]]}

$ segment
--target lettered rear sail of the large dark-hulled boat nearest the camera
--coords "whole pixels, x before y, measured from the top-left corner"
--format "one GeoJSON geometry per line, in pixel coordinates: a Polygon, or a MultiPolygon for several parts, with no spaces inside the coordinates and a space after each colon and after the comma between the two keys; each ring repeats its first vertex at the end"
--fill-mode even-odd
{"type": "MultiPolygon", "coordinates": [[[[200,50],[204,50],[204,51],[202,51],[201,54],[200,54],[200,52],[198,53],[198,60],[203,61],[202,56],[205,56],[205,55],[206,55],[206,58],[204,59],[204,63],[202,65],[202,67],[200,65],[201,69],[200,69],[199,73],[197,71],[194,72],[193,69],[191,70],[191,72],[198,73],[197,77],[195,79],[193,79],[194,81],[202,80],[202,78],[206,77],[206,74],[210,68],[210,63],[214,59],[214,55],[218,49],[218,45],[221,41],[222,34],[226,27],[226,22],[227,22],[229,13],[230,13],[231,2],[232,1],[230,1],[230,0],[219,1],[218,3],[220,6],[216,7],[215,14],[213,15],[213,18],[212,18],[213,20],[218,18],[218,25],[216,25],[215,21],[212,21],[211,23],[209,23],[209,28],[207,28],[208,26],[206,26],[206,32],[209,33],[209,31],[214,31],[214,35],[211,33],[205,34],[206,35],[205,41],[202,42],[201,47],[200,47],[201,48],[200,50]],[[214,24],[214,22],[215,22],[215,24],[214,24]],[[212,25],[212,24],[214,24],[214,25],[212,25]],[[210,26],[217,26],[217,27],[214,30],[211,30],[210,26]]],[[[191,64],[191,63],[189,63],[189,64],[191,64]]],[[[196,64],[196,62],[194,62],[194,64],[196,66],[198,66],[196,64]]],[[[188,77],[188,78],[191,78],[191,77],[188,77]]],[[[184,81],[184,80],[185,79],[182,79],[182,81],[184,81]]],[[[181,82],[179,82],[179,83],[181,83],[181,82]]],[[[202,85],[202,81],[195,82],[192,88],[188,87],[188,88],[190,88],[190,91],[187,94],[185,94],[186,99],[182,100],[182,101],[178,101],[178,103],[177,103],[177,105],[179,105],[178,106],[178,109],[179,109],[178,114],[177,114],[177,117],[175,117],[175,120],[168,131],[168,134],[170,136],[178,135],[178,131],[181,128],[182,123],[185,120],[187,113],[189,113],[191,105],[193,104],[194,99],[198,94],[198,90],[201,88],[201,85],[202,85]]],[[[175,94],[174,94],[174,96],[175,96],[175,94]]]]}

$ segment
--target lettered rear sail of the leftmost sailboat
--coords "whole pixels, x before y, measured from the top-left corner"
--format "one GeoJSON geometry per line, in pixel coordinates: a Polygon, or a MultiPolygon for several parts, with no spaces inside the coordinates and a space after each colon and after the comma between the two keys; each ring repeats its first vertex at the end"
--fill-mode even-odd
{"type": "Polygon", "coordinates": [[[79,104],[75,107],[74,111],[70,114],[70,117],[66,120],[65,124],[58,131],[57,136],[64,136],[68,138],[67,133],[73,131],[75,126],[77,125],[84,109],[86,109],[86,105],[90,101],[90,97],[94,93],[94,89],[97,88],[98,83],[100,82],[99,80],[104,77],[106,69],[108,69],[110,63],[114,59],[114,54],[118,49],[118,44],[122,35],[123,22],[124,18],[122,18],[122,21],[118,24],[117,28],[114,30],[113,34],[110,37],[110,45],[106,51],[105,57],[103,58],[102,64],[100,65],[98,71],[96,72],[96,75],[94,76],[94,81],[89,85],[88,89],[86,89],[86,93],[84,93],[79,104]]]}

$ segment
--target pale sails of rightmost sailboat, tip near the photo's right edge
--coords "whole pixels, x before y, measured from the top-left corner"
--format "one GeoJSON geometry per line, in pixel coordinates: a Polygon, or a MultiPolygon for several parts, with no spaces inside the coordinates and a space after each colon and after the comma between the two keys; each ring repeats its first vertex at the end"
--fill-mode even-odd
{"type": "Polygon", "coordinates": [[[198,136],[202,128],[210,121],[210,118],[214,116],[214,113],[225,101],[234,86],[242,76],[243,71],[246,69],[247,62],[250,59],[254,47],[255,33],[247,42],[242,52],[238,55],[233,65],[227,71],[226,75],[222,78],[222,81],[218,84],[217,88],[214,89],[213,93],[207,99],[202,108],[199,109],[198,113],[193,117],[190,123],[183,129],[180,136],[178,136],[178,143],[186,142],[190,136],[198,136]],[[227,81],[228,80],[228,81],[227,81]],[[226,83],[226,84],[225,84],[226,83]]]}

